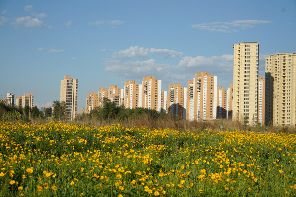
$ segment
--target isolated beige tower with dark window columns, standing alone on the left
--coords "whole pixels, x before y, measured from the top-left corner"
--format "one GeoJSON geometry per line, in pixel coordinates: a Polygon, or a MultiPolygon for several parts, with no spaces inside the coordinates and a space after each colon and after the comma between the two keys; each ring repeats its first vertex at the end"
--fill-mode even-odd
{"type": "Polygon", "coordinates": [[[71,79],[65,75],[61,80],[60,102],[66,102],[66,114],[69,120],[73,120],[78,114],[78,79],[71,79]]]}

